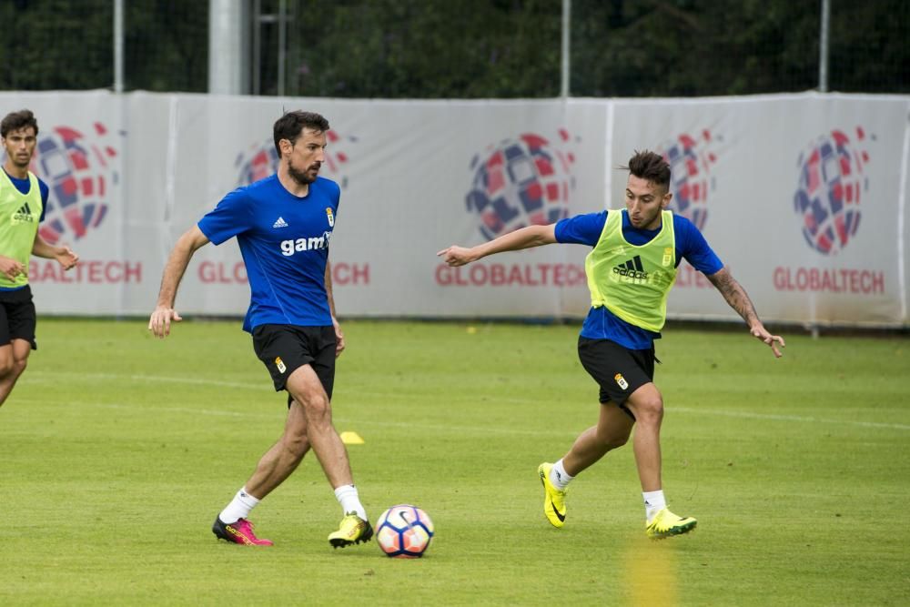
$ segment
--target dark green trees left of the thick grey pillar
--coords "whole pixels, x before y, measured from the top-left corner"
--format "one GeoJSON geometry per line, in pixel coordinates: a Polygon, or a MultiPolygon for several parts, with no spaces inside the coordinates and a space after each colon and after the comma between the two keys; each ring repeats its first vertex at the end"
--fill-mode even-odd
{"type": "MultiPolygon", "coordinates": [[[[208,3],[125,0],[126,90],[208,88],[208,3]]],[[[114,83],[113,0],[0,0],[0,89],[114,83]]]]}

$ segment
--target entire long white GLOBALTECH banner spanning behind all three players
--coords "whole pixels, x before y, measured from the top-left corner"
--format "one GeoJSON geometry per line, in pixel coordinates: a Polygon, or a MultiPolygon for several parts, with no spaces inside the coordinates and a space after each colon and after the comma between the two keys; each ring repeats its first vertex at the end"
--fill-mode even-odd
{"type": "MultiPolygon", "coordinates": [[[[275,171],[286,109],[329,118],[321,174],[341,186],[329,258],[339,314],[581,318],[588,248],[551,246],[448,268],[436,252],[531,223],[621,208],[625,164],[672,164],[690,218],[764,319],[906,326],[906,96],[374,101],[106,91],[0,93],[40,126],[51,187],[41,233],[82,258],[35,258],[40,313],[144,316],[177,238],[235,187],[275,171]]],[[[2,253],[2,252],[0,252],[2,253]]],[[[236,241],[200,249],[177,309],[241,315],[236,241]]],[[[733,319],[683,262],[672,318],[733,319]]]]}

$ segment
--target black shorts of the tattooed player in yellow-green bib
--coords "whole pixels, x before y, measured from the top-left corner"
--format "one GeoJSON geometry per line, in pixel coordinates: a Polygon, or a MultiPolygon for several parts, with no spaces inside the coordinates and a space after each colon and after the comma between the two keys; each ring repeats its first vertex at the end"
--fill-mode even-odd
{"type": "MultiPolygon", "coordinates": [[[[625,401],[654,379],[654,349],[628,349],[610,339],[578,339],[581,365],[601,387],[601,402],[615,402],[630,415],[625,401]]],[[[632,418],[634,419],[634,417],[632,418]]]]}

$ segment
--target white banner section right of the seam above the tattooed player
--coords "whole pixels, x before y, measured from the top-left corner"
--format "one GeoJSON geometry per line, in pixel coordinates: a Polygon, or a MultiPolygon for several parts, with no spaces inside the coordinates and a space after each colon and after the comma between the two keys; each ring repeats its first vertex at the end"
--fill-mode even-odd
{"type": "MultiPolygon", "coordinates": [[[[672,164],[672,207],[702,229],[764,317],[906,323],[906,97],[774,96],[617,102],[631,141],[672,164]]],[[[614,196],[617,196],[614,191],[614,196]]],[[[730,317],[681,267],[670,312],[730,317]]]]}

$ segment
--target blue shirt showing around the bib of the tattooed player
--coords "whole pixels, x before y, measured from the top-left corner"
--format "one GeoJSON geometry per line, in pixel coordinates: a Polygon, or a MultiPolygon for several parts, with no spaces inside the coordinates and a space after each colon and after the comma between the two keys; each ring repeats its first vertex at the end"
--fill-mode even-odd
{"type": "MultiPolygon", "coordinates": [[[[607,222],[607,213],[608,211],[601,211],[562,219],[556,224],[556,240],[589,247],[595,246],[600,240],[603,226],[607,222]]],[[[629,221],[629,213],[625,210],[622,211],[622,236],[630,244],[641,247],[650,242],[660,231],[661,228],[653,230],[633,228],[629,221]]],[[[674,213],[673,231],[676,237],[677,266],[682,258],[685,258],[693,268],[705,275],[714,274],[723,268],[723,262],[714,254],[702,233],[695,228],[691,221],[674,213]]],[[[654,339],[660,339],[661,334],[636,327],[619,319],[606,306],[602,306],[591,308],[588,311],[588,316],[581,326],[581,337],[610,339],[628,349],[650,349],[654,339]]]]}

